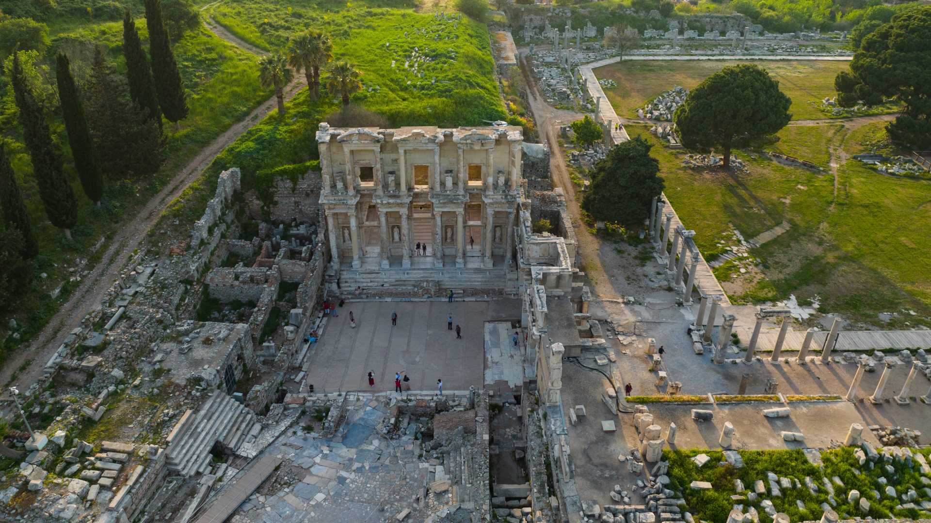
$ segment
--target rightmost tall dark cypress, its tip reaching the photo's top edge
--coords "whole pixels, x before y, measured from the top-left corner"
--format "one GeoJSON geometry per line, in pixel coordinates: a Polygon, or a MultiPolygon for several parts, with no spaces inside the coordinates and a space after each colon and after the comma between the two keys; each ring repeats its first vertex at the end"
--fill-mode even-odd
{"type": "Polygon", "coordinates": [[[155,91],[158,93],[158,105],[169,122],[178,123],[188,113],[187,101],[184,100],[184,87],[178,63],[171,51],[169,32],[162,20],[160,0],[145,0],[145,22],[149,28],[149,52],[152,55],[152,74],[155,77],[155,91]]]}

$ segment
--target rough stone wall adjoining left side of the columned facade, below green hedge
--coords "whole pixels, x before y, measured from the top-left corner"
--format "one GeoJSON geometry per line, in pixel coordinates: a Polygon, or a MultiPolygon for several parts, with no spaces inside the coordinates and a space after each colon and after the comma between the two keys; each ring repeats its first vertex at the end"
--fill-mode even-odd
{"type": "Polygon", "coordinates": [[[270,207],[263,208],[259,194],[253,190],[246,194],[246,211],[252,220],[317,223],[321,186],[320,173],[316,171],[304,173],[293,183],[281,177],[275,182],[270,207]]]}

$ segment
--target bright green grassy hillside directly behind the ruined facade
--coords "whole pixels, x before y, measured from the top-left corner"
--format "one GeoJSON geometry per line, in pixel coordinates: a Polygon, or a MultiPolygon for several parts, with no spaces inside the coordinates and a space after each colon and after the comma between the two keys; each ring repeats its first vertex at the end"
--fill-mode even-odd
{"type": "Polygon", "coordinates": [[[325,28],[335,58],[362,73],[364,88],[353,101],[392,126],[455,127],[504,119],[485,25],[466,17],[437,20],[412,7],[408,0],[229,0],[209,10],[231,33],[267,50],[285,47],[308,27],[325,28]],[[413,62],[404,67],[415,48],[430,58],[419,62],[417,74],[413,62]]]}

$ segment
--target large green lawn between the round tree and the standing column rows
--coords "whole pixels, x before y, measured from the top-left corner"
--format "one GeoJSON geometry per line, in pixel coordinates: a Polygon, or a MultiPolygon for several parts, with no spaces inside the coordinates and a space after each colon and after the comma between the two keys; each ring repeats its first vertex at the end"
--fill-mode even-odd
{"type": "MultiPolygon", "coordinates": [[[[858,128],[856,137],[840,126],[787,127],[777,147],[765,148],[826,165],[829,144],[843,141],[847,154],[862,151],[858,137],[877,140],[882,126],[858,128]]],[[[931,262],[916,253],[931,244],[928,181],[884,176],[851,160],[838,169],[835,196],[830,168],[816,172],[737,152],[749,174],[699,171],[682,166],[686,153],[659,145],[645,126],[627,126],[627,132],[657,143],[652,154],[660,161],[666,194],[709,260],[735,245],[734,230],[749,240],[782,221],[791,225],[750,249],[760,261],[754,271],[740,274],[732,262],[715,269],[733,302],[794,294],[851,319],[875,322],[878,313],[906,309],[919,316],[905,315],[903,322],[927,322],[922,315],[931,310],[931,262]]]]}

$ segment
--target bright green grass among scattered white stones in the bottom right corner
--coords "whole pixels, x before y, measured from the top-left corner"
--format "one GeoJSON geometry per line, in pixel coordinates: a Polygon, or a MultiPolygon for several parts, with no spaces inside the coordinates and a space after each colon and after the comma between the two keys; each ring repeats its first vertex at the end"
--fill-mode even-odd
{"type": "MultiPolygon", "coordinates": [[[[827,477],[830,480],[833,476],[838,476],[843,482],[843,487],[832,485],[834,499],[837,502],[834,510],[842,519],[863,516],[854,503],[846,501],[847,493],[851,489],[857,489],[861,497],[865,497],[870,502],[870,512],[867,516],[873,518],[884,518],[890,515],[906,518],[918,517],[919,513],[916,510],[896,510],[895,507],[902,503],[901,501],[884,496],[876,499],[872,496],[871,490],[882,490],[877,479],[885,474],[884,464],[886,463],[880,459],[877,463],[868,462],[860,466],[854,451],[854,448],[845,447],[822,452],[823,468],[809,463],[802,450],[739,450],[744,461],[744,466],[739,469],[730,465],[719,466],[718,463],[724,461],[720,450],[666,450],[663,456],[669,462],[670,488],[681,490],[688,510],[692,512],[695,519],[724,521],[734,503],[743,503],[745,512],[749,505],[753,505],[760,513],[760,521],[768,523],[772,521],[772,518],[765,514],[760,503],[763,499],[769,499],[773,502],[776,511],[786,513],[791,521],[816,520],[823,512],[820,504],[828,502],[829,496],[822,478],[827,477]],[[711,458],[701,468],[698,468],[690,459],[699,453],[705,453],[711,458]],[[873,464],[872,468],[870,464],[873,464]],[[772,472],[779,477],[797,479],[801,488],[781,489],[781,496],[770,496],[767,472],[772,472]],[[818,486],[815,494],[805,487],[806,476],[810,476],[818,486]],[[767,494],[760,496],[755,503],[749,503],[747,500],[734,502],[731,500],[732,495],[746,495],[746,491],[735,490],[735,479],[740,479],[744,488],[749,491],[752,491],[756,480],[762,480],[767,494]],[[690,489],[689,485],[692,481],[708,481],[713,489],[690,489]],[[804,510],[799,509],[796,500],[804,504],[804,510]]],[[[910,486],[921,491],[923,484],[916,469],[909,468],[904,463],[889,464],[895,469],[895,476],[887,477],[887,479],[889,485],[896,488],[897,494],[907,492],[910,486]]]]}

